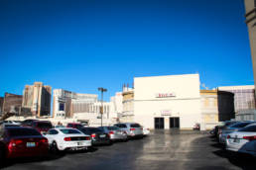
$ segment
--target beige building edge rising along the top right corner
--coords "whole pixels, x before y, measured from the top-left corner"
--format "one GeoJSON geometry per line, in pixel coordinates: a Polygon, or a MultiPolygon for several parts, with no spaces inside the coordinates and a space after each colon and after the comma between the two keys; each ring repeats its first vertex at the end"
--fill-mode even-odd
{"type": "Polygon", "coordinates": [[[244,0],[245,5],[245,23],[247,24],[250,46],[251,58],[253,64],[254,85],[256,86],[256,1],[244,0]]]}

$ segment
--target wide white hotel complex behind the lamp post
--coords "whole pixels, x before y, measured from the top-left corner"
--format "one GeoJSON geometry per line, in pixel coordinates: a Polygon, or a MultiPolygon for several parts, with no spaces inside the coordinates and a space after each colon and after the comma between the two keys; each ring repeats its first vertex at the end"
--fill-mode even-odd
{"type": "MultiPolygon", "coordinates": [[[[54,90],[53,117],[56,121],[72,121],[98,127],[101,124],[101,102],[94,94],[79,94],[63,89],[54,90]]],[[[103,102],[103,124],[110,125],[113,118],[111,103],[103,102]]]]}

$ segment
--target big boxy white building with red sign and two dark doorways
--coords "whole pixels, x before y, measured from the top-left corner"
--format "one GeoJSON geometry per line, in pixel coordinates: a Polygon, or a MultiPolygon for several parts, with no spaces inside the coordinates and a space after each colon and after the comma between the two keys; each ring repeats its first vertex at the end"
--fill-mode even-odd
{"type": "Polygon", "coordinates": [[[134,121],[144,127],[192,129],[201,123],[199,75],[136,77],[134,121]]]}

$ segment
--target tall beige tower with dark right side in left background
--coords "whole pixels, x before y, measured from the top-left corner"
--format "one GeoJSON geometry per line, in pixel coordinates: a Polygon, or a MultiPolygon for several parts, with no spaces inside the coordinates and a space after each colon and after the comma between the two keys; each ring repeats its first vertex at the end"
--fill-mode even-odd
{"type": "Polygon", "coordinates": [[[51,97],[51,86],[44,86],[42,82],[35,82],[34,85],[25,86],[22,106],[28,109],[33,116],[50,116],[51,97]]]}

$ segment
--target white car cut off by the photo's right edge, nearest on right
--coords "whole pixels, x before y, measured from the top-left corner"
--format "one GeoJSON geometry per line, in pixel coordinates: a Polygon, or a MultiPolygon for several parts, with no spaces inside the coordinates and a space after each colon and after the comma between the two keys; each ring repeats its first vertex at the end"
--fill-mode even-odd
{"type": "Polygon", "coordinates": [[[226,149],[256,156],[256,124],[228,134],[226,149]]]}

